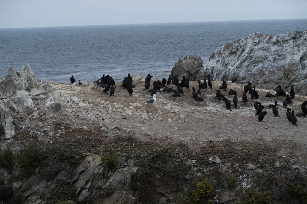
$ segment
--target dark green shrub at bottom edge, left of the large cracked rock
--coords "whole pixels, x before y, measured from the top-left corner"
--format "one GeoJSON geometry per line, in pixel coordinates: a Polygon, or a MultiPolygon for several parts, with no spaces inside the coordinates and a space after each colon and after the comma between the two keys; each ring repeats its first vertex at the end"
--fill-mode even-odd
{"type": "Polygon", "coordinates": [[[69,201],[76,201],[75,186],[59,186],[49,192],[47,204],[66,204],[69,201]]]}

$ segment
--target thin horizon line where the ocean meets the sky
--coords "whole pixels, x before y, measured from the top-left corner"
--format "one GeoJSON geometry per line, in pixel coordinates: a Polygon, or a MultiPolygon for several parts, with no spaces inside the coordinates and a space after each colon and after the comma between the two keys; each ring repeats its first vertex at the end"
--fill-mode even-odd
{"type": "Polygon", "coordinates": [[[227,22],[227,21],[266,21],[266,20],[294,20],[306,18],[273,18],[273,19],[247,19],[247,20],[220,20],[220,21],[186,21],[186,22],[164,22],[164,23],[127,23],[127,24],[100,24],[100,25],[60,25],[60,26],[41,26],[41,27],[13,27],[0,29],[15,28],[57,28],[57,27],[81,27],[81,26],[108,26],[108,25],[146,25],[146,24],[171,24],[171,23],[203,23],[203,22],[227,22]]]}

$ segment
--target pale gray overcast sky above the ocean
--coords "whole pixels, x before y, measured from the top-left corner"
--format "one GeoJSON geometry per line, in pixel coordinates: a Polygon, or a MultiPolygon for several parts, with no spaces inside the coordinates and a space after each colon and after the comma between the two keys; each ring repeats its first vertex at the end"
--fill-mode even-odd
{"type": "Polygon", "coordinates": [[[0,0],[0,28],[307,18],[307,0],[0,0]]]}

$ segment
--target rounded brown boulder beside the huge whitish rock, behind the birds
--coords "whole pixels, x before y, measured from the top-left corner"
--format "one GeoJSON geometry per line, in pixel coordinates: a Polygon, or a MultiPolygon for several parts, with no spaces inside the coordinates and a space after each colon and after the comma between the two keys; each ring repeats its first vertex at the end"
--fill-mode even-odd
{"type": "Polygon", "coordinates": [[[199,55],[185,55],[175,63],[169,77],[178,76],[179,80],[182,80],[182,76],[185,76],[186,79],[195,81],[201,68],[203,68],[203,60],[199,55]]]}

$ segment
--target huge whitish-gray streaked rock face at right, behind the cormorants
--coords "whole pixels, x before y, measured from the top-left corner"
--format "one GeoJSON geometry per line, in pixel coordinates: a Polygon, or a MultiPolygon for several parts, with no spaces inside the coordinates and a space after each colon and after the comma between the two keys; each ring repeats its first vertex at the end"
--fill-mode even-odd
{"type": "MultiPolygon", "coordinates": [[[[273,89],[296,84],[295,91],[307,94],[307,31],[263,35],[255,32],[217,47],[198,73],[216,79],[273,89]]],[[[290,91],[290,88],[287,90],[290,91]]]]}

